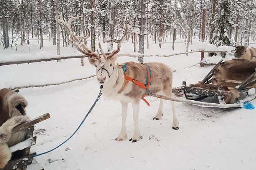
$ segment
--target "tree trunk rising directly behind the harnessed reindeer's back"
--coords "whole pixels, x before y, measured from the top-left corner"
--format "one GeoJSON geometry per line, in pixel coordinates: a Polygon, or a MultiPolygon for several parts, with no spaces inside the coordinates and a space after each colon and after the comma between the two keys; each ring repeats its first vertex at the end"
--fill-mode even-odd
{"type": "MultiPolygon", "coordinates": [[[[144,32],[145,32],[145,23],[146,23],[146,0],[140,1],[140,19],[139,19],[139,53],[144,53],[144,32]]],[[[143,63],[143,56],[138,57],[138,61],[143,63]]]]}

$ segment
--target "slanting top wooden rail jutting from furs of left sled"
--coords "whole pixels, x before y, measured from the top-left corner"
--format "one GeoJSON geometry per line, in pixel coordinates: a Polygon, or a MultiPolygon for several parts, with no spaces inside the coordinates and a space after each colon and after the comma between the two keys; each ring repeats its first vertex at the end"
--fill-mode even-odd
{"type": "Polygon", "coordinates": [[[46,119],[49,119],[50,117],[51,116],[50,116],[49,113],[43,114],[39,117],[36,117],[33,120],[30,120],[28,122],[25,122],[21,125],[16,126],[15,128],[13,128],[13,133],[18,132],[18,131],[23,130],[23,129],[26,129],[26,128],[32,126],[32,125],[35,125],[36,123],[42,122],[43,120],[46,120],[46,119]]]}

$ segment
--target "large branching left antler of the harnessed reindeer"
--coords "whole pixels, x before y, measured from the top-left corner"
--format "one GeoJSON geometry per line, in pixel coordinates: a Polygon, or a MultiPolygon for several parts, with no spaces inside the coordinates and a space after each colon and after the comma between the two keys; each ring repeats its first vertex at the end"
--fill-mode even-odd
{"type": "Polygon", "coordinates": [[[92,57],[94,59],[100,59],[99,56],[93,52],[92,50],[90,50],[84,43],[83,40],[87,39],[89,36],[87,35],[86,37],[76,37],[74,35],[74,33],[71,30],[71,22],[75,21],[76,19],[81,18],[81,16],[76,16],[76,17],[71,17],[69,19],[69,21],[67,21],[67,23],[63,20],[62,18],[62,14],[57,14],[56,15],[56,21],[59,22],[59,24],[61,24],[62,26],[64,26],[67,29],[67,32],[70,35],[70,39],[67,37],[67,40],[74,45],[74,47],[80,51],[81,53],[92,57]],[[79,39],[80,38],[80,39],[79,39]]]}

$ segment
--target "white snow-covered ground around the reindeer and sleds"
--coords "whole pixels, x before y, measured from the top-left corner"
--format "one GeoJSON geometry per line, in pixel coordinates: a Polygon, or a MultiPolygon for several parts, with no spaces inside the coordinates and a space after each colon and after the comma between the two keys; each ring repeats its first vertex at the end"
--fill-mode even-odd
{"type": "MultiPolygon", "coordinates": [[[[36,40],[31,40],[31,52],[19,47],[18,51],[0,50],[0,61],[13,58],[39,58],[56,56],[55,46],[44,41],[39,50],[36,40]]],[[[194,42],[197,42],[194,40],[194,42]]],[[[96,45],[97,46],[97,45],[96,45]]],[[[106,43],[103,44],[106,49],[106,43]]],[[[115,47],[114,47],[115,48],[115,47]]],[[[175,51],[171,43],[150,44],[146,54],[170,54],[185,51],[184,43],[177,43],[175,51]]],[[[194,43],[190,50],[212,48],[202,43],[194,43]]],[[[227,47],[229,48],[229,47],[227,47]]],[[[133,51],[130,43],[123,43],[121,52],[133,51]]],[[[61,48],[61,55],[79,54],[76,49],[61,48]]],[[[216,63],[220,56],[206,57],[216,63]]],[[[231,59],[232,56],[228,57],[231,59]]],[[[120,57],[118,63],[137,61],[136,58],[120,57]]],[[[145,62],[162,62],[173,67],[173,87],[196,83],[213,66],[200,67],[199,53],[189,56],[177,55],[169,58],[147,57],[145,62]],[[193,66],[197,64],[196,66],[193,66]],[[193,67],[191,67],[193,66],[193,67]]],[[[56,64],[30,63],[0,67],[0,88],[21,85],[63,82],[88,77],[95,74],[94,67],[85,59],[67,59],[56,64]]],[[[28,100],[27,112],[33,119],[49,112],[51,118],[35,126],[37,142],[32,151],[48,151],[68,138],[80,124],[99,92],[96,78],[75,81],[64,85],[20,89],[20,94],[28,100]]],[[[235,109],[223,111],[217,108],[203,108],[184,103],[176,103],[179,130],[172,130],[172,112],[169,101],[164,101],[164,115],[161,120],[153,120],[159,100],[147,98],[151,104],[140,104],[139,125],[143,139],[131,143],[129,140],[117,142],[121,129],[121,105],[104,96],[84,122],[78,133],[59,149],[36,157],[45,170],[128,170],[128,169],[180,169],[180,170],[253,170],[256,169],[256,111],[235,109]],[[158,141],[151,139],[155,135],[158,141]]],[[[252,102],[256,106],[256,100],[252,102]]],[[[128,139],[133,135],[132,108],[128,105],[126,120],[128,139]]]]}

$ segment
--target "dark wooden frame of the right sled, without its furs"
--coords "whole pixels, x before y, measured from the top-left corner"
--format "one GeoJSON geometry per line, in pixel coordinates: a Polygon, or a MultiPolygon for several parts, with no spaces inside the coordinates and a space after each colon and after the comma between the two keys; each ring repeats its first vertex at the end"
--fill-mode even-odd
{"type": "MultiPolygon", "coordinates": [[[[204,83],[204,84],[212,83],[213,71],[220,65],[220,63],[222,63],[222,61],[223,61],[223,59],[220,60],[213,67],[213,69],[202,80],[202,83],[204,83]]],[[[238,92],[240,93],[240,96],[241,96],[241,93],[243,93],[243,92],[246,92],[248,95],[248,90],[251,89],[250,86],[253,85],[254,83],[256,83],[256,71],[253,74],[251,74],[246,80],[244,80],[240,85],[238,85],[236,87],[236,90],[238,90],[238,92]]],[[[203,99],[206,97],[213,97],[213,98],[218,98],[218,101],[220,104],[219,106],[221,106],[222,104],[226,104],[225,101],[223,100],[223,91],[222,91],[221,86],[218,87],[218,90],[208,90],[208,89],[203,89],[203,88],[188,87],[188,86],[186,86],[186,82],[182,82],[181,91],[182,91],[182,97],[184,99],[199,101],[200,99],[203,99]],[[195,98],[195,96],[197,96],[197,97],[195,98]]],[[[227,93],[227,92],[225,92],[225,93],[227,93]]],[[[256,94],[254,94],[253,96],[250,96],[250,97],[248,95],[248,97],[246,97],[246,99],[244,99],[243,102],[248,102],[255,98],[256,98],[256,94]]],[[[239,98],[236,98],[237,104],[239,104],[238,103],[239,100],[240,100],[239,98]]],[[[226,104],[226,105],[228,105],[228,104],[226,104]]],[[[217,103],[216,103],[216,106],[218,106],[217,103]]],[[[240,106],[242,106],[242,105],[240,104],[240,106]]],[[[235,107],[230,105],[230,107],[226,107],[226,108],[231,109],[231,108],[235,108],[235,107]]]]}

